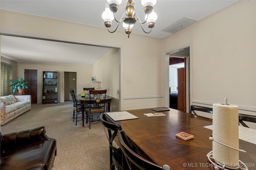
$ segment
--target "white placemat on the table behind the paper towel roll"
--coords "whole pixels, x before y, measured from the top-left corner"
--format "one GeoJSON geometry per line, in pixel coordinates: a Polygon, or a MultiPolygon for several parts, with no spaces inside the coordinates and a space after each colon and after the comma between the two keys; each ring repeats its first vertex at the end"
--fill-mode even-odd
{"type": "MultiPolygon", "coordinates": [[[[212,130],[212,125],[204,126],[207,129],[212,130]]],[[[248,127],[238,126],[239,139],[250,142],[256,145],[256,129],[251,129],[248,127]]]]}

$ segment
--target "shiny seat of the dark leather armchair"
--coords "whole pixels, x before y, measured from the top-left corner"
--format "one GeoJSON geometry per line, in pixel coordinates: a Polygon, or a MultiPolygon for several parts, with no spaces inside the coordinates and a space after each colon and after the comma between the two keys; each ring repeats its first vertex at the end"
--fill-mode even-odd
{"type": "Polygon", "coordinates": [[[54,140],[40,141],[8,150],[1,154],[1,169],[49,170],[52,168],[55,158],[55,152],[52,152],[52,150],[56,150],[56,141],[54,140]]]}

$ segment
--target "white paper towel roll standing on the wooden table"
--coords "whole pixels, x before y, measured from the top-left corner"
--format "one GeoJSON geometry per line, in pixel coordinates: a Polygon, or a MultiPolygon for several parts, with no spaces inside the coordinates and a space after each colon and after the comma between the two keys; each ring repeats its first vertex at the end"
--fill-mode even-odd
{"type": "MultiPolygon", "coordinates": [[[[239,149],[238,106],[213,104],[212,114],[214,140],[239,149]]],[[[226,166],[239,166],[239,151],[214,141],[212,141],[212,157],[226,166]]]]}

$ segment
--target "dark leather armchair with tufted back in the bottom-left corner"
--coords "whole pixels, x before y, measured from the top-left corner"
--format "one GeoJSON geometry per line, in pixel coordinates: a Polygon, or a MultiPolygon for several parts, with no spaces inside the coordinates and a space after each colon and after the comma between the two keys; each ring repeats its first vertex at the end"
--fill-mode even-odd
{"type": "Polygon", "coordinates": [[[45,127],[1,135],[1,169],[51,170],[56,156],[56,140],[45,134],[45,127]]]}

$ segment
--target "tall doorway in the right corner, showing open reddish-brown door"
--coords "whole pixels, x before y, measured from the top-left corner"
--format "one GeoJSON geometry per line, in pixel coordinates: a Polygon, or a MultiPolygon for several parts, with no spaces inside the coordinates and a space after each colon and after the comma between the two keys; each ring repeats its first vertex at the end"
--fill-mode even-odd
{"type": "MultiPolygon", "coordinates": [[[[188,112],[190,105],[190,46],[166,53],[168,71],[165,71],[168,97],[166,105],[170,108],[188,112]],[[169,101],[169,102],[167,102],[169,101]]],[[[165,64],[167,65],[167,63],[165,64]]],[[[167,92],[167,90],[166,90],[167,92]]]]}

